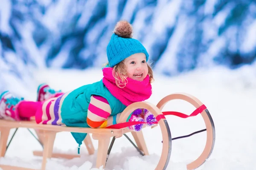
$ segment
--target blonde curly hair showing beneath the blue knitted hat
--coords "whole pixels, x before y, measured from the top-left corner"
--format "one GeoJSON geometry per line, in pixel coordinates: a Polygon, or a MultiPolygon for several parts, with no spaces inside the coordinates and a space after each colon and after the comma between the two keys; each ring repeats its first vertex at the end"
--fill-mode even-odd
{"type": "MultiPolygon", "coordinates": [[[[104,66],[107,66],[108,62],[104,64],[104,66]]],[[[154,82],[153,77],[153,70],[150,65],[148,65],[148,75],[149,75],[149,82],[154,82]]],[[[124,88],[126,83],[128,83],[127,78],[127,71],[126,71],[126,65],[124,60],[122,62],[119,62],[117,65],[113,67],[113,77],[116,79],[116,86],[119,88],[124,88]]]]}

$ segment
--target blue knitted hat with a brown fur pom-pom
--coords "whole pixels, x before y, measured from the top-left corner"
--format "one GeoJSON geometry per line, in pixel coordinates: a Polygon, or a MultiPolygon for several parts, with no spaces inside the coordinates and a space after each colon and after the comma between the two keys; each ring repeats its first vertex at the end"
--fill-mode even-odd
{"type": "Polygon", "coordinates": [[[132,26],[127,21],[119,21],[107,46],[108,65],[115,66],[125,58],[136,53],[144,53],[148,61],[148,52],[139,40],[132,38],[132,26]]]}

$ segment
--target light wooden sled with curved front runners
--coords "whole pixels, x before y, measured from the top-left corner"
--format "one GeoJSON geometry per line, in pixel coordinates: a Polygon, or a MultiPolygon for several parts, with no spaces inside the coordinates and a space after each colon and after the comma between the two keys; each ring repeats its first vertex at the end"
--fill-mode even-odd
{"type": "MultiPolygon", "coordinates": [[[[151,113],[153,113],[153,115],[157,119],[158,125],[160,126],[160,130],[162,132],[162,139],[163,139],[162,153],[160,156],[160,160],[157,164],[157,167],[155,167],[155,170],[165,170],[171,156],[172,136],[171,136],[168,122],[166,121],[166,118],[164,114],[161,112],[161,110],[163,109],[163,107],[166,105],[167,102],[173,99],[185,100],[191,103],[192,105],[194,105],[195,108],[199,108],[201,105],[203,105],[198,99],[196,99],[194,96],[191,96],[189,94],[171,94],[163,98],[157,104],[157,106],[149,102],[136,102],[129,105],[127,108],[125,108],[125,110],[123,111],[122,115],[119,118],[119,121],[117,122],[117,124],[126,122],[131,112],[136,110],[137,108],[145,108],[148,111],[151,111],[151,113]]],[[[187,165],[188,170],[196,169],[199,166],[201,166],[204,163],[204,161],[210,156],[214,147],[215,127],[212,121],[212,117],[210,116],[209,111],[207,109],[204,109],[201,112],[201,115],[206,125],[207,142],[206,142],[206,146],[204,148],[203,153],[198,157],[198,159],[196,159],[195,161],[187,165]]],[[[36,130],[38,134],[38,138],[43,143],[43,146],[44,146],[43,152],[41,151],[33,152],[35,156],[43,156],[41,170],[46,170],[47,159],[49,158],[56,157],[56,158],[72,159],[75,157],[79,157],[78,155],[52,153],[53,143],[55,140],[56,133],[58,132],[66,131],[66,132],[78,132],[78,133],[91,133],[92,138],[95,140],[98,140],[98,150],[100,150],[100,152],[97,153],[97,159],[96,159],[97,168],[101,167],[102,165],[105,168],[106,160],[109,154],[108,147],[109,147],[111,138],[113,137],[113,139],[116,139],[121,137],[122,135],[125,135],[125,133],[131,132],[126,127],[120,128],[120,129],[115,129],[115,128],[93,129],[93,128],[82,128],[82,127],[61,127],[56,125],[38,125],[35,122],[31,122],[31,121],[14,122],[14,121],[0,120],[0,133],[1,133],[0,157],[3,157],[6,153],[6,144],[7,144],[7,139],[9,136],[10,129],[17,128],[17,127],[33,128],[36,130]]],[[[134,140],[137,144],[138,149],[142,151],[144,155],[149,155],[142,131],[131,132],[131,133],[132,133],[132,136],[134,137],[134,140]]],[[[110,144],[111,145],[110,147],[113,146],[112,142],[110,144]]],[[[94,147],[89,134],[84,139],[84,143],[87,147],[88,153],[93,154],[94,147]]],[[[3,165],[3,164],[0,164],[0,167],[3,170],[32,170],[29,168],[15,167],[10,165],[3,165]]]]}

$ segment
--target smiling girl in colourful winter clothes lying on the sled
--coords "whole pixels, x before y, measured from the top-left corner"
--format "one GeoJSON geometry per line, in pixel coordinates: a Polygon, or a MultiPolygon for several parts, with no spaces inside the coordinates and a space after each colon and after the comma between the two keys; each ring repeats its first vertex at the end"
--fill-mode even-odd
{"type": "MultiPolygon", "coordinates": [[[[147,64],[148,52],[132,38],[127,21],[116,24],[107,46],[108,63],[102,69],[99,82],[84,85],[71,92],[54,91],[49,85],[38,87],[37,102],[24,101],[9,91],[0,95],[0,118],[29,120],[36,123],[70,127],[105,128],[116,124],[122,111],[134,102],[148,99],[152,94],[153,71],[147,64]]],[[[128,121],[155,122],[145,109],[137,109],[128,121]]],[[[128,127],[141,130],[143,124],[128,127]]],[[[86,133],[72,133],[81,145],[86,133]]]]}

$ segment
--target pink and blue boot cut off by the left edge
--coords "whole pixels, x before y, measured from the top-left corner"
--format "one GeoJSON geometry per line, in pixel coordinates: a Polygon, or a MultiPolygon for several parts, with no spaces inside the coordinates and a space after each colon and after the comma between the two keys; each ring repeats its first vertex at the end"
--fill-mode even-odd
{"type": "Polygon", "coordinates": [[[0,94],[0,119],[20,121],[17,107],[23,98],[14,97],[9,91],[0,94]]]}

